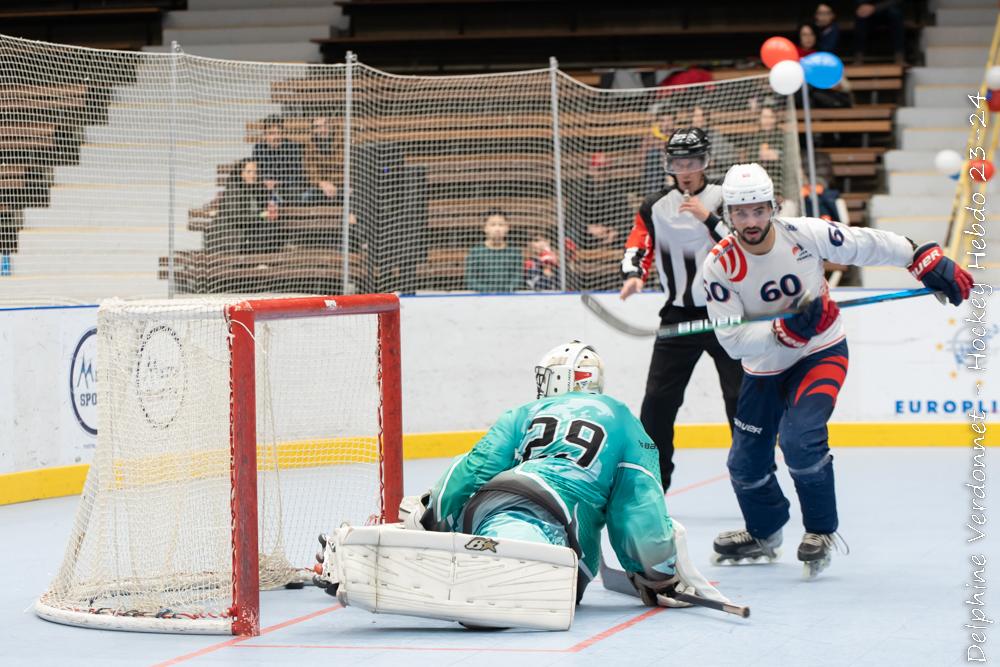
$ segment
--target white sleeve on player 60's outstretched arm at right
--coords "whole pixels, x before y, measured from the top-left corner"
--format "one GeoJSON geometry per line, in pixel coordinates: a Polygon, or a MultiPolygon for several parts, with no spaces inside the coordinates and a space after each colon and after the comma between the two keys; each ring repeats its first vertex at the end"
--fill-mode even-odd
{"type": "Polygon", "coordinates": [[[810,243],[817,255],[837,264],[905,267],[913,261],[913,244],[893,232],[850,227],[820,218],[783,220],[797,230],[800,243],[810,243]]]}

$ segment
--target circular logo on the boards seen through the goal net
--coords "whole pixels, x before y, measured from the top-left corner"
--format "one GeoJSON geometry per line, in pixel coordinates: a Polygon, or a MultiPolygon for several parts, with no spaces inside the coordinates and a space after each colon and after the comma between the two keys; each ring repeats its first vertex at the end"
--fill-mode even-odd
{"type": "Polygon", "coordinates": [[[153,327],[139,344],[135,391],[146,421],[167,428],[184,404],[186,373],[181,339],[168,326],[153,327]]]}

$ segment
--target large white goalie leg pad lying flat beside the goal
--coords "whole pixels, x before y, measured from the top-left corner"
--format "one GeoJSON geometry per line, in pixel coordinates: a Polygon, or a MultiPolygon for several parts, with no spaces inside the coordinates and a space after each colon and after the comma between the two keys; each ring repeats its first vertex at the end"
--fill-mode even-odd
{"type": "Polygon", "coordinates": [[[344,525],[331,538],[324,578],[339,582],[345,606],[482,627],[573,623],[577,559],[568,547],[400,524],[344,525]]]}

